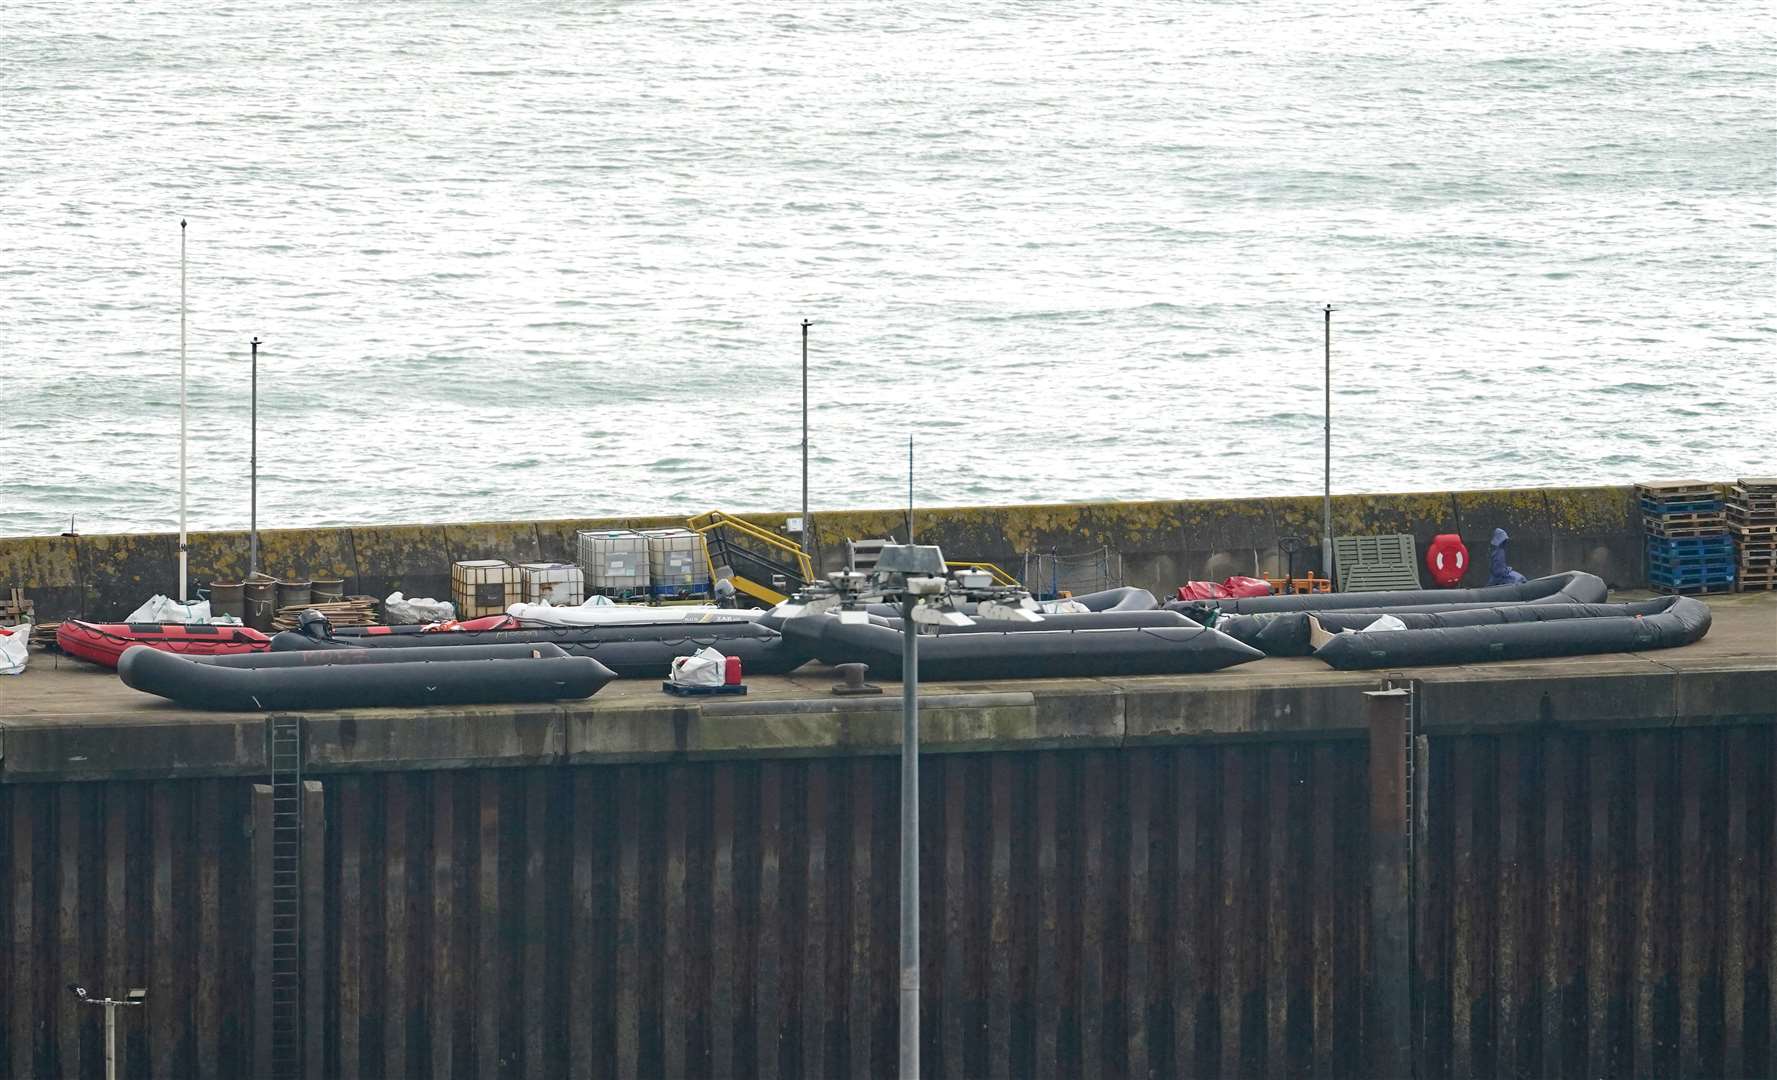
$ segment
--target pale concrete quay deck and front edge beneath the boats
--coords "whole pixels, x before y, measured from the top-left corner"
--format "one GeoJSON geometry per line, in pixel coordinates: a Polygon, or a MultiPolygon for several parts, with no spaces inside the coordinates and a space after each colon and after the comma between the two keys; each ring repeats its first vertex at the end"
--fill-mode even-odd
{"type": "MultiPolygon", "coordinates": [[[[1631,593],[1633,595],[1633,593],[1631,593]]],[[[1715,623],[1672,650],[1413,668],[1423,734],[1635,728],[1777,718],[1777,593],[1708,597],[1715,623]]],[[[1386,671],[1265,659],[1185,677],[926,684],[933,753],[1123,748],[1363,734],[1363,689],[1386,671]]],[[[855,757],[899,746],[899,695],[837,698],[832,673],[750,679],[745,698],[691,700],[620,680],[583,702],[304,714],[307,773],[474,766],[855,757]]],[[[265,716],[194,712],[103,668],[37,654],[0,682],[0,783],[265,773],[265,716]]]]}

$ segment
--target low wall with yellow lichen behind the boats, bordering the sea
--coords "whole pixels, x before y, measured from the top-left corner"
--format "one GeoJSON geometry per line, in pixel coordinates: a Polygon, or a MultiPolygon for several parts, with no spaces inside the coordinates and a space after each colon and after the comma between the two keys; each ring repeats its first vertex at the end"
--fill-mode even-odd
{"type": "MultiPolygon", "coordinates": [[[[778,528],[789,517],[748,513],[778,528]]],[[[906,536],[904,510],[812,513],[812,547],[837,568],[844,540],[906,536]]],[[[1025,552],[1121,554],[1127,584],[1171,592],[1187,579],[1283,572],[1279,536],[1299,536],[1295,570],[1320,567],[1319,497],[1194,499],[1155,503],[1057,503],[1031,506],[940,506],[913,512],[917,538],[949,558],[997,561],[1022,572],[1025,552]]],[[[682,517],[606,517],[421,526],[263,529],[259,567],[279,576],[334,576],[347,590],[386,597],[450,595],[455,560],[572,561],[579,529],[661,528],[682,517]]],[[[1612,586],[1646,583],[1640,515],[1631,487],[1510,488],[1335,496],[1336,535],[1413,533],[1423,545],[1438,533],[1468,544],[1466,584],[1484,584],[1487,540],[1512,535],[1512,563],[1528,576],[1589,570],[1612,586]]],[[[247,533],[192,533],[190,581],[238,581],[247,572],[247,533]]],[[[178,592],[178,536],[130,533],[0,538],[0,588],[25,588],[39,618],[121,618],[153,593],[178,592]]]]}

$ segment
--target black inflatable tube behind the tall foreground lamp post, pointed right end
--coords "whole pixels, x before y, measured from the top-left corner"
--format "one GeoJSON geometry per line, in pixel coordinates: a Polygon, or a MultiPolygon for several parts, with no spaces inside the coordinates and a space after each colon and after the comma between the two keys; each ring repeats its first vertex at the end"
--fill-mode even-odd
{"type": "MultiPolygon", "coordinates": [[[[784,625],[826,663],[865,663],[871,675],[901,679],[901,631],[803,616],[784,625]]],[[[920,636],[919,677],[1063,679],[1080,675],[1191,675],[1256,661],[1263,654],[1199,625],[1118,631],[977,632],[920,636]]]]}

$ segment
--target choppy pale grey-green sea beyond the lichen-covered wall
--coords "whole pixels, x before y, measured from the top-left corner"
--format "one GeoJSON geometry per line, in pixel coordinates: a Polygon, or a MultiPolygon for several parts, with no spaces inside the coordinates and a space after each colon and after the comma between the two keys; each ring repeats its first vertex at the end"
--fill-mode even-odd
{"type": "Polygon", "coordinates": [[[75,4],[0,533],[1777,472],[1765,4],[75,4]]]}

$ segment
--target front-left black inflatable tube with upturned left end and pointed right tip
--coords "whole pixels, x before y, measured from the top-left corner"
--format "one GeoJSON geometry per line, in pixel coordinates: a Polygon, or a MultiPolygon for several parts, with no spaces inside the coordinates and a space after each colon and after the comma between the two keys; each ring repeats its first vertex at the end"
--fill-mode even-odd
{"type": "Polygon", "coordinates": [[[192,659],[130,648],[117,675],[124,686],[179,705],[236,712],[560,702],[592,696],[615,679],[583,655],[458,659],[450,652],[450,659],[391,663],[329,650],[291,663],[277,654],[192,659]]]}

